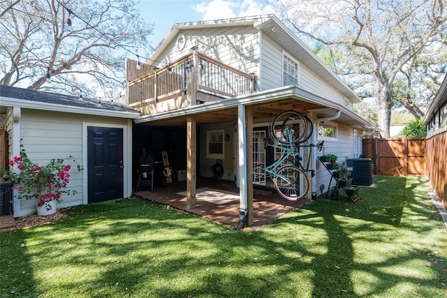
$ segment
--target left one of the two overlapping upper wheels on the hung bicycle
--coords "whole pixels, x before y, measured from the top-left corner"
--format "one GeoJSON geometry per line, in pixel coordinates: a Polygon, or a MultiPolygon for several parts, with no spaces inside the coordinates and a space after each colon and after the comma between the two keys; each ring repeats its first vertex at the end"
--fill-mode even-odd
{"type": "Polygon", "coordinates": [[[281,144],[297,143],[305,136],[307,121],[302,114],[285,111],[274,117],[271,135],[275,142],[281,144]]]}

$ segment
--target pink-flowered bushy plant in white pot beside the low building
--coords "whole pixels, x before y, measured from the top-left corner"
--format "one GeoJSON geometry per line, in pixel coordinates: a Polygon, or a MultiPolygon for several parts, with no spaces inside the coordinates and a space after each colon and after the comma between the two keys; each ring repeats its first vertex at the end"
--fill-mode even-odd
{"type": "MultiPolygon", "coordinates": [[[[82,166],[77,165],[78,171],[82,166]]],[[[38,165],[29,160],[27,152],[20,144],[20,156],[9,161],[10,170],[6,172],[17,190],[17,199],[37,199],[36,209],[38,215],[54,214],[57,211],[57,202],[61,202],[61,195],[74,195],[76,191],[66,189],[71,165],[64,165],[64,159],[53,158],[45,166],[38,165]],[[15,170],[15,168],[17,170],[15,170]]]]}

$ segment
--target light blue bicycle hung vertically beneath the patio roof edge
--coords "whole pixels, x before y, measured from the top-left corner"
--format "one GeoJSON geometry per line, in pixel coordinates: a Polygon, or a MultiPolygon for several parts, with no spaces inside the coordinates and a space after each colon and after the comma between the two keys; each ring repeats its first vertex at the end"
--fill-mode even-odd
{"type": "MultiPolygon", "coordinates": [[[[277,192],[286,200],[300,200],[309,193],[310,182],[305,172],[312,172],[313,177],[314,170],[302,165],[302,157],[296,144],[309,140],[313,129],[309,118],[294,111],[281,112],[272,121],[270,137],[273,144],[267,145],[279,149],[281,154],[263,170],[270,174],[277,192]]],[[[320,147],[321,150],[323,142],[304,146],[320,147]]]]}

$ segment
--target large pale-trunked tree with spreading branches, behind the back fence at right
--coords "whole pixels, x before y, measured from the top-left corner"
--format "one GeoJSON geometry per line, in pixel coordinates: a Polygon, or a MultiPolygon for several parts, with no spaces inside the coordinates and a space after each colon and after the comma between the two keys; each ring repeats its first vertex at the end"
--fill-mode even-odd
{"type": "MultiPolygon", "coordinates": [[[[396,103],[390,97],[390,91],[396,79],[408,80],[404,74],[410,69],[412,59],[427,48],[446,50],[444,0],[270,2],[305,40],[310,38],[337,47],[349,57],[344,68],[351,77],[369,78],[371,94],[378,103],[379,128],[383,137],[390,135],[390,110],[396,103]]],[[[432,60],[432,63],[441,65],[442,61],[432,60]]],[[[360,92],[363,91],[365,89],[360,92]]],[[[402,103],[406,105],[404,101],[402,103]]],[[[413,112],[420,114],[416,109],[413,112]]]]}

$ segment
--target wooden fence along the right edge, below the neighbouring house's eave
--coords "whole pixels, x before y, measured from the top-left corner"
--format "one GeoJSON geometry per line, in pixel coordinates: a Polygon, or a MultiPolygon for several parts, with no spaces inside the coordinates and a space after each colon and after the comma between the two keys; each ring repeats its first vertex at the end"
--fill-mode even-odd
{"type": "Polygon", "coordinates": [[[427,138],[425,175],[447,208],[447,131],[427,138]]]}

